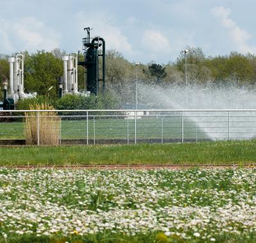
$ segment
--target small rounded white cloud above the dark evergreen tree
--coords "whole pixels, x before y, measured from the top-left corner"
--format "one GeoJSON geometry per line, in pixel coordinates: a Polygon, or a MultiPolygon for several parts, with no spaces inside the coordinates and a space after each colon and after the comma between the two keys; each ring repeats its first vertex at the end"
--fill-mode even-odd
{"type": "Polygon", "coordinates": [[[166,38],[160,31],[144,31],[141,42],[145,47],[154,52],[172,51],[168,38],[166,38]]]}

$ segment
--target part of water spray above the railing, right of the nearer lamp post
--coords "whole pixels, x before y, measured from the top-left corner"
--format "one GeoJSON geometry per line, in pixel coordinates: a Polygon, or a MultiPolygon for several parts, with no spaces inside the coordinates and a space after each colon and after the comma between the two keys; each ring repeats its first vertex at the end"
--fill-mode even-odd
{"type": "Polygon", "coordinates": [[[138,84],[139,108],[256,109],[256,90],[246,86],[138,84]]]}

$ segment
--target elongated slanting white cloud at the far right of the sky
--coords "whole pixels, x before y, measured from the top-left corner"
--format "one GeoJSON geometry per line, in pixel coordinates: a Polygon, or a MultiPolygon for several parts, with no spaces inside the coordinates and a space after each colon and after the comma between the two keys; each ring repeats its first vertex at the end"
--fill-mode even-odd
{"type": "Polygon", "coordinates": [[[228,30],[232,42],[236,45],[237,51],[244,53],[255,52],[256,47],[247,43],[252,36],[245,29],[237,26],[234,20],[230,19],[230,13],[231,11],[223,6],[212,9],[214,17],[220,19],[222,26],[228,30]]]}

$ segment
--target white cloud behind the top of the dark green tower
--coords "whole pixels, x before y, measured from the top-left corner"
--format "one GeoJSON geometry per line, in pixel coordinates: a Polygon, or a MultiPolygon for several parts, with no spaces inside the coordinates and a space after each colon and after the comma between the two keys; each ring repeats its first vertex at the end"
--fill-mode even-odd
{"type": "Polygon", "coordinates": [[[88,16],[88,13],[79,12],[77,13],[76,21],[80,23],[80,26],[93,27],[97,31],[97,35],[106,40],[108,49],[116,49],[120,52],[126,52],[126,54],[132,54],[132,45],[120,29],[113,24],[111,16],[105,13],[96,13],[88,16]]]}

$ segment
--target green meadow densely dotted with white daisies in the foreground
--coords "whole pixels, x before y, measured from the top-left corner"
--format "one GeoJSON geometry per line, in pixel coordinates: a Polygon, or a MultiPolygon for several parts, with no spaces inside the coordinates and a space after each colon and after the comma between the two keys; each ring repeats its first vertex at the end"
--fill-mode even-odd
{"type": "Polygon", "coordinates": [[[0,242],[255,242],[256,169],[0,169],[0,242]]]}

